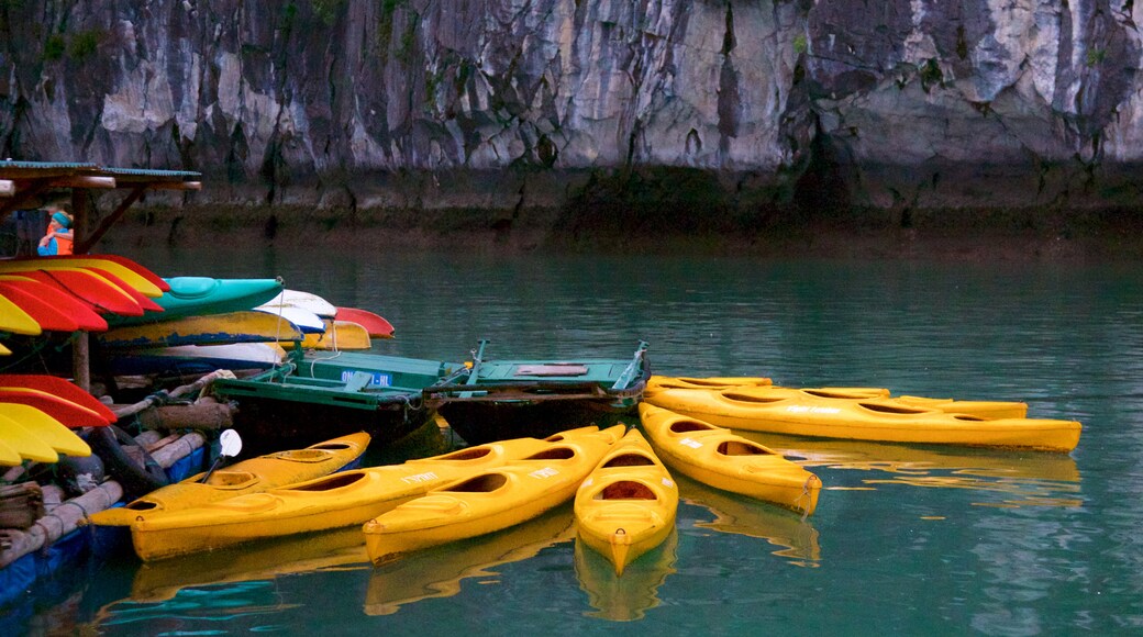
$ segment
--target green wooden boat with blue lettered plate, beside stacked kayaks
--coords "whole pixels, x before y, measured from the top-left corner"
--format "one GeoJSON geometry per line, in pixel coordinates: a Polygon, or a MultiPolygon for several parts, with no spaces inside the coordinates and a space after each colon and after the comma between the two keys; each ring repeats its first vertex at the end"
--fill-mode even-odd
{"type": "Polygon", "coordinates": [[[237,403],[234,428],[243,440],[272,450],[363,430],[375,446],[395,442],[434,416],[422,390],[463,368],[366,352],[321,354],[294,350],[274,369],[214,381],[216,396],[237,403]]]}

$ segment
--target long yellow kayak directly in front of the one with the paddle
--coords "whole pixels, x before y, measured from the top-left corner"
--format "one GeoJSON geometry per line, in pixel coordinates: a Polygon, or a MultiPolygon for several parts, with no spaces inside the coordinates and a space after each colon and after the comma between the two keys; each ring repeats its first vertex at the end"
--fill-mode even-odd
{"type": "Polygon", "coordinates": [[[550,444],[535,438],[489,443],[229,498],[135,521],[131,542],[139,558],[151,561],[362,524],[431,489],[528,457],[550,444]]]}

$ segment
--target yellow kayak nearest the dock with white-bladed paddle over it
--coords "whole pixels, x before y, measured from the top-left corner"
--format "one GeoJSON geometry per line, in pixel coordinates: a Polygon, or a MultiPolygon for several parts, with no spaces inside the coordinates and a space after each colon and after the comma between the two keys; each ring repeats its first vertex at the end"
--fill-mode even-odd
{"type": "Polygon", "coordinates": [[[326,476],[361,455],[369,440],[369,434],[362,432],[305,449],[242,460],[214,471],[206,483],[201,482],[203,474],[198,474],[152,491],[125,507],[93,514],[90,519],[102,526],[126,526],[137,519],[326,476]]]}

